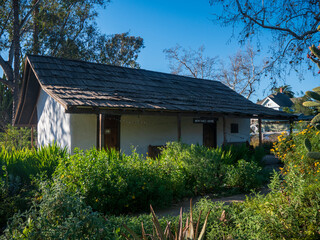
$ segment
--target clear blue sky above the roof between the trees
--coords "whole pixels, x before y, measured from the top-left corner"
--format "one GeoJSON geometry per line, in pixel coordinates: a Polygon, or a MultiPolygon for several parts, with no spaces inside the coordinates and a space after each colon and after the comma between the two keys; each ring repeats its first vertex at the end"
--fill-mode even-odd
{"type": "MultiPolygon", "coordinates": [[[[211,21],[215,10],[208,0],[113,0],[106,9],[99,11],[97,22],[103,33],[129,31],[144,39],[145,48],[138,58],[141,68],[170,72],[163,50],[176,44],[193,49],[204,45],[206,55],[222,59],[241,48],[236,39],[228,42],[232,34],[230,28],[211,21]]],[[[264,49],[268,44],[267,35],[265,43],[264,49]]],[[[320,85],[318,77],[316,79],[311,73],[307,75],[303,82],[292,76],[286,83],[294,92],[305,92],[320,85]]],[[[268,85],[268,81],[262,82],[251,100],[269,94],[265,91],[268,85]]]]}

